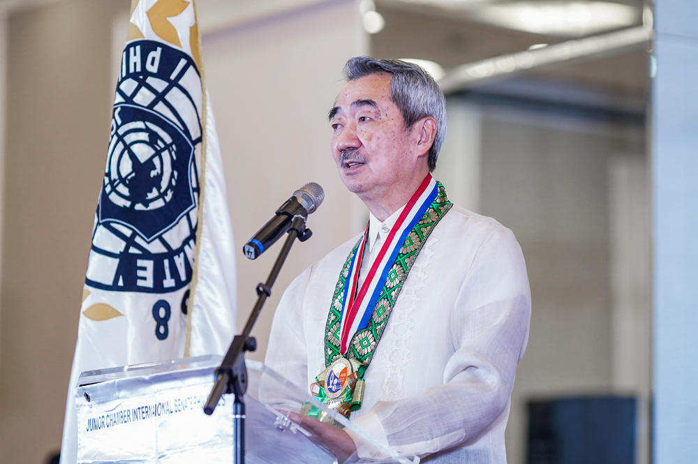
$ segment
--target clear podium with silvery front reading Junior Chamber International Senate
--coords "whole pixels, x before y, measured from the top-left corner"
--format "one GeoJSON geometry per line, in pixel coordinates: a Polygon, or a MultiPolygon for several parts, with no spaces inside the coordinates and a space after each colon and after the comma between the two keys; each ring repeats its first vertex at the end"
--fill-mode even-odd
{"type": "MultiPolygon", "coordinates": [[[[221,359],[193,357],[82,373],[75,388],[77,464],[232,463],[232,395],[224,395],[211,416],[203,412],[221,359]]],[[[245,462],[336,463],[290,419],[303,403],[325,406],[264,364],[246,364],[245,462]]],[[[344,462],[419,463],[337,416],[359,449],[344,462]]]]}

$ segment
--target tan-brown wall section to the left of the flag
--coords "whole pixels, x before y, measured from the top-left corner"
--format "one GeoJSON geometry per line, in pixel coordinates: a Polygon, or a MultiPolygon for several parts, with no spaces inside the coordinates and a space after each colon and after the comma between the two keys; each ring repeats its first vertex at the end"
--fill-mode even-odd
{"type": "Polygon", "coordinates": [[[58,449],[105,163],[112,16],[128,1],[8,15],[0,326],[0,455],[58,449]]]}

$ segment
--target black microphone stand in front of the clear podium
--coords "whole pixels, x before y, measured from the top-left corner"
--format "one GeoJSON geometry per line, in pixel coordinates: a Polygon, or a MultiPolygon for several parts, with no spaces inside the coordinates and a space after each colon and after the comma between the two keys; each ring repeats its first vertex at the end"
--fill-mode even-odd
{"type": "Polygon", "coordinates": [[[236,335],[232,339],[232,343],[230,343],[230,347],[221,362],[221,366],[216,368],[216,383],[213,389],[211,389],[209,398],[204,406],[204,412],[211,415],[216,409],[216,405],[218,405],[218,401],[221,400],[223,394],[232,393],[235,395],[235,400],[232,404],[233,464],[244,464],[245,462],[244,394],[247,391],[248,377],[244,352],[255,351],[257,349],[257,340],[250,336],[252,327],[257,321],[257,317],[262,312],[262,306],[264,306],[265,301],[267,301],[267,297],[272,294],[272,285],[274,285],[276,277],[279,276],[281,266],[283,266],[283,262],[286,260],[293,242],[295,239],[306,241],[313,234],[310,229],[306,229],[305,221],[306,216],[302,214],[293,216],[291,225],[288,229],[288,237],[286,237],[283,248],[281,248],[279,252],[279,257],[277,257],[276,262],[274,262],[272,271],[269,272],[267,283],[260,283],[257,285],[257,303],[248,317],[242,334],[236,335]]]}

